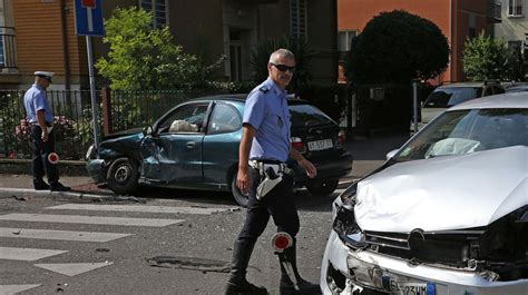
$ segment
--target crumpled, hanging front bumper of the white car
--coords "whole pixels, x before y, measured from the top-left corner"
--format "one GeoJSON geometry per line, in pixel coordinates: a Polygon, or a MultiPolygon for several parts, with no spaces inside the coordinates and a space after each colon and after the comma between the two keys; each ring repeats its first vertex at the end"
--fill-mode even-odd
{"type": "Polygon", "coordinates": [[[428,287],[426,294],[434,295],[528,294],[528,279],[490,282],[471,271],[411,265],[372,252],[353,252],[332,230],[321,266],[323,294],[362,294],[363,289],[391,294],[390,282],[423,284],[428,287]]]}

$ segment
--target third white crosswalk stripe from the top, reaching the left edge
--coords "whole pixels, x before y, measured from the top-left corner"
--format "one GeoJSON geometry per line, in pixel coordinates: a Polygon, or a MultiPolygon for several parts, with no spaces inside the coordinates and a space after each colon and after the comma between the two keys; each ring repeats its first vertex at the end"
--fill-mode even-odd
{"type": "Polygon", "coordinates": [[[60,239],[105,243],[131,234],[97,233],[97,232],[71,232],[71,230],[48,230],[31,228],[9,228],[0,227],[0,237],[14,238],[38,238],[38,239],[60,239]]]}

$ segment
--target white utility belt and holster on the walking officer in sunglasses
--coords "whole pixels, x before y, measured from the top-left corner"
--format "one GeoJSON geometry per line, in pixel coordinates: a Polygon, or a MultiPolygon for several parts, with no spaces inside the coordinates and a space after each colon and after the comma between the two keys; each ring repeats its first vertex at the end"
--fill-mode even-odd
{"type": "Polygon", "coordinates": [[[276,185],[278,185],[285,174],[291,174],[285,163],[272,163],[264,160],[250,160],[250,166],[261,174],[261,183],[256,188],[256,199],[264,198],[276,185]]]}

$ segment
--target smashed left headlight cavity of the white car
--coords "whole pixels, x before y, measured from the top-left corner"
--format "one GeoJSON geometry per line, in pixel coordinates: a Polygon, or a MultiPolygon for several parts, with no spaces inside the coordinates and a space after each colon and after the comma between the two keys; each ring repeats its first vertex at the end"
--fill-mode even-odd
{"type": "Polygon", "coordinates": [[[358,183],[346,188],[340,196],[341,201],[334,204],[333,229],[343,243],[354,249],[365,247],[363,230],[355,223],[354,205],[358,183]]]}

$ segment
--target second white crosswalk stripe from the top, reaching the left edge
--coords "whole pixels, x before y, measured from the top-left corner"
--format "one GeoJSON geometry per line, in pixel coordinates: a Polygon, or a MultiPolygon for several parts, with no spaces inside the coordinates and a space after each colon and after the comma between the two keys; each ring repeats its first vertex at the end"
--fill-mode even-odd
{"type": "Polygon", "coordinates": [[[0,220],[91,224],[91,225],[150,226],[150,227],[164,227],[164,226],[184,222],[183,219],[127,218],[127,217],[18,214],[18,213],[1,215],[0,220]]]}

